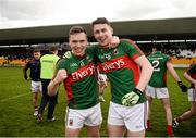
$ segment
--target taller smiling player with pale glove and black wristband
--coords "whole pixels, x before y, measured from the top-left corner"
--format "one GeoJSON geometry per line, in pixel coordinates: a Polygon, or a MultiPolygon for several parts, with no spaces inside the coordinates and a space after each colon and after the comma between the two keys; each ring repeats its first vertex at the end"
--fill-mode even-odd
{"type": "Polygon", "coordinates": [[[126,129],[128,137],[144,137],[147,104],[143,91],[152,74],[152,66],[128,39],[121,40],[114,48],[107,48],[113,35],[107,18],[97,18],[91,25],[94,37],[99,42],[99,71],[107,75],[111,84],[109,137],[123,137],[126,129]]]}

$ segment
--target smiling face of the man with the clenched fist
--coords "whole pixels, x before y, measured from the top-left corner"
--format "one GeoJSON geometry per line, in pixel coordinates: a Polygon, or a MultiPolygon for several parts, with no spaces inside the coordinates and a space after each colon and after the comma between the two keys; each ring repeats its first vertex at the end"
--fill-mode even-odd
{"type": "Polygon", "coordinates": [[[83,57],[87,47],[87,36],[85,33],[70,35],[69,45],[74,55],[83,57]]]}

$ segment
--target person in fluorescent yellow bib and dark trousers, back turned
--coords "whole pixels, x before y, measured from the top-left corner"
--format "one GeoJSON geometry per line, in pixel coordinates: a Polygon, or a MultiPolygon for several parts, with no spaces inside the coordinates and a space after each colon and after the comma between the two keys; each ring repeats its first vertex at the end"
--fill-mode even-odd
{"type": "Polygon", "coordinates": [[[53,112],[58,100],[58,93],[50,97],[48,96],[48,85],[53,77],[54,71],[56,71],[56,64],[59,61],[58,54],[58,47],[51,46],[49,48],[49,53],[45,54],[40,58],[40,78],[41,78],[41,85],[42,85],[42,98],[41,103],[38,111],[38,122],[42,122],[42,114],[45,111],[45,106],[48,104],[48,115],[47,121],[51,122],[54,121],[53,112]]]}

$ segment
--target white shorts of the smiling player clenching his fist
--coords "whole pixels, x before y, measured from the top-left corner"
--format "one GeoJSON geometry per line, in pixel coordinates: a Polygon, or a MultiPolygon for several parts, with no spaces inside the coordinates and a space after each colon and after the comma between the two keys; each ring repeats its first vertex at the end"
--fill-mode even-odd
{"type": "Polygon", "coordinates": [[[85,110],[75,110],[66,108],[65,126],[77,129],[84,125],[99,126],[102,123],[100,103],[85,110]]]}

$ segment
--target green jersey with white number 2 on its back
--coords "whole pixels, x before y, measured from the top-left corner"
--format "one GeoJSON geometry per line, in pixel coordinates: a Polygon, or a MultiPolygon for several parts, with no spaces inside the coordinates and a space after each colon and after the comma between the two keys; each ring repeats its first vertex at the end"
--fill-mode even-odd
{"type": "Polygon", "coordinates": [[[148,85],[155,88],[167,87],[167,62],[170,61],[170,57],[157,51],[151,53],[148,60],[154,66],[154,73],[148,85]]]}

